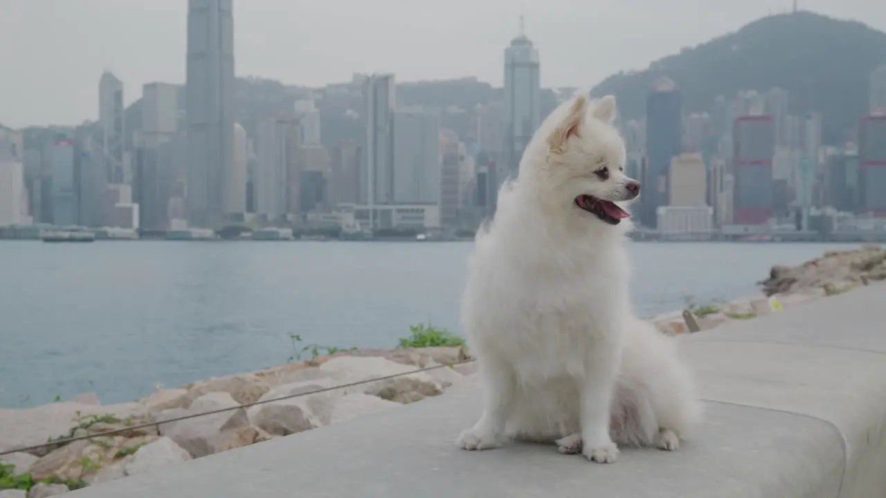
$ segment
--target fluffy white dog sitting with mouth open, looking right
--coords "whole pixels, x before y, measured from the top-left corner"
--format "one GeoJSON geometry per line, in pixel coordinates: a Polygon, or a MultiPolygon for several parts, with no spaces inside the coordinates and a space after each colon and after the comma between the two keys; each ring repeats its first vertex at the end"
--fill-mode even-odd
{"type": "Polygon", "coordinates": [[[462,330],[479,362],[483,412],[458,445],[556,442],[614,462],[618,444],[674,450],[701,415],[673,339],[633,315],[615,98],[572,97],[541,124],[517,181],[479,230],[462,330]]]}

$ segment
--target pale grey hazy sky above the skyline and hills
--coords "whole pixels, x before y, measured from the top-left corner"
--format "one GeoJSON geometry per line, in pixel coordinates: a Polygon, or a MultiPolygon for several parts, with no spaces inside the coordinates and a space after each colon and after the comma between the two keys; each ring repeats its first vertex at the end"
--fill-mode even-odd
{"type": "MultiPolygon", "coordinates": [[[[145,82],[184,82],[187,0],[0,0],[0,123],[97,118],[104,68],[128,103],[145,82]]],[[[517,33],[543,86],[593,86],[622,69],[734,31],[791,0],[234,0],[237,75],[288,84],[385,71],[398,81],[474,75],[501,85],[517,33]],[[521,7],[524,5],[524,7],[521,7]]],[[[886,30],[886,2],[800,0],[886,30]]]]}

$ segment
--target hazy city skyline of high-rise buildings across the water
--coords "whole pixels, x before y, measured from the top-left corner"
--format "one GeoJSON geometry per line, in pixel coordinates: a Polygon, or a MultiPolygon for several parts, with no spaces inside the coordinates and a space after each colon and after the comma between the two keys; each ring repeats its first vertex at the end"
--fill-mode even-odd
{"type": "MultiPolygon", "coordinates": [[[[237,82],[234,4],[189,0],[184,85],[144,84],[142,105],[124,112],[125,84],[104,71],[97,126],[7,133],[4,147],[11,153],[4,154],[13,163],[6,166],[5,188],[25,189],[27,197],[19,197],[27,198],[29,209],[19,212],[21,202],[14,202],[4,206],[4,218],[12,225],[128,229],[136,237],[140,230],[212,234],[238,224],[346,234],[470,231],[494,214],[495,189],[518,175],[541,117],[575,91],[541,91],[547,59],[527,36],[524,15],[503,51],[504,85],[497,97],[472,78],[431,88],[467,84],[485,97],[456,104],[462,97],[443,92],[418,97],[416,104],[409,93],[423,85],[397,85],[395,74],[377,72],[355,73],[351,82],[319,91],[271,80],[237,82]],[[346,167],[335,149],[354,142],[361,148],[346,167]]],[[[731,57],[736,46],[754,46],[749,31],[770,22],[823,19],[859,29],[797,11],[796,3],[793,8],[712,43],[731,57]]],[[[786,26],[774,29],[782,33],[786,26]]],[[[882,41],[886,34],[876,36],[882,41]]],[[[644,115],[626,113],[616,121],[626,133],[626,168],[647,186],[637,222],[668,237],[783,227],[805,237],[828,230],[813,208],[842,206],[851,223],[855,214],[886,214],[878,189],[859,190],[863,182],[882,184],[886,173],[886,152],[874,146],[886,130],[884,68],[864,69],[867,78],[859,78],[870,89],[871,115],[843,128],[843,142],[823,141],[829,121],[817,108],[789,106],[795,92],[804,91],[790,82],[787,89],[779,86],[785,83],[757,82],[756,89],[739,89],[733,97],[712,97],[703,110],[696,102],[688,113],[680,85],[658,76],[649,85],[644,115]],[[832,164],[833,157],[842,159],[832,164]]],[[[691,79],[674,77],[692,88],[691,79]]],[[[845,119],[838,126],[845,127],[845,119]]]]}

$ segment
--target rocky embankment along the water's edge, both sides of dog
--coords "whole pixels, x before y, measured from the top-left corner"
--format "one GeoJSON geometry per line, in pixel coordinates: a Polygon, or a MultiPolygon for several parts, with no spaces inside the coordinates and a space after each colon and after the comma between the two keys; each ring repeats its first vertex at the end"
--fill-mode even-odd
{"type": "MultiPolygon", "coordinates": [[[[797,267],[772,268],[762,293],[728,303],[694,304],[650,319],[660,331],[705,331],[783,307],[886,279],[886,251],[864,246],[830,252],[797,267]]],[[[243,409],[318,389],[467,359],[460,347],[348,351],[268,370],[158,390],[132,403],[102,406],[95,394],[34,409],[0,409],[0,451],[75,436],[89,440],[0,456],[0,498],[43,498],[171,463],[334,424],[443,393],[476,370],[475,363],[409,374],[243,409]],[[228,409],[169,422],[180,416],[228,409]],[[137,428],[151,424],[146,428],[137,428]],[[101,433],[121,430],[114,436],[101,433]],[[14,468],[12,468],[14,465],[14,468]],[[29,488],[30,491],[4,487],[29,488]]]]}

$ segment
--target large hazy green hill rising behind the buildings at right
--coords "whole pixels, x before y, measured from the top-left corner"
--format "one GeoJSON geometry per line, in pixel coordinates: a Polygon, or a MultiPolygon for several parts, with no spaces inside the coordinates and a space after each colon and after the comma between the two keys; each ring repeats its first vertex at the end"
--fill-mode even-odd
{"type": "Polygon", "coordinates": [[[680,89],[686,113],[709,111],[719,95],[781,87],[789,92],[790,113],[820,112],[825,143],[840,144],[867,113],[869,75],[883,63],[886,33],[797,12],[759,19],[643,71],[612,75],[591,93],[614,94],[623,118],[638,119],[649,88],[663,75],[680,89]]]}

